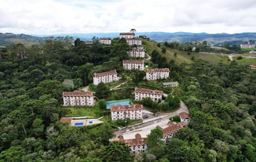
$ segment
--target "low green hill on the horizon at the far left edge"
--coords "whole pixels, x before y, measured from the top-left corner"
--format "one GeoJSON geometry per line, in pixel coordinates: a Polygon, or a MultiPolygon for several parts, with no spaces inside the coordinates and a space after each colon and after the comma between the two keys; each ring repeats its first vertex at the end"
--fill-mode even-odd
{"type": "Polygon", "coordinates": [[[0,46],[22,43],[25,46],[31,46],[43,42],[43,38],[30,36],[26,34],[0,33],[0,46]]]}

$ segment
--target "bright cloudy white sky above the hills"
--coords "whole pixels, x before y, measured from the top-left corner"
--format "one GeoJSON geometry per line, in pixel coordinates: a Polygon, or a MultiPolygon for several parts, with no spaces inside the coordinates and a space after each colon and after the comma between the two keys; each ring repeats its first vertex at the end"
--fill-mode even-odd
{"type": "Polygon", "coordinates": [[[255,0],[0,0],[0,33],[256,32],[255,0]]]}

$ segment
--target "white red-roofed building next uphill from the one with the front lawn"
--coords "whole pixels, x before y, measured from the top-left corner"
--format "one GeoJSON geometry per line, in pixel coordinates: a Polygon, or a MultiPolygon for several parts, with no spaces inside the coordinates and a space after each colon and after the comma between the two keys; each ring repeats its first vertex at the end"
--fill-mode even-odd
{"type": "Polygon", "coordinates": [[[111,83],[118,80],[116,70],[111,70],[107,72],[100,72],[93,74],[93,84],[98,85],[100,82],[111,83]]]}

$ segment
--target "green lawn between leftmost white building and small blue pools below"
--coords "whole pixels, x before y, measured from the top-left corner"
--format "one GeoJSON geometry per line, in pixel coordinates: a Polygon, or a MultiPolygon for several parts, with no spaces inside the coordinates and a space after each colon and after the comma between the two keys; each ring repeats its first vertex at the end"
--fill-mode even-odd
{"type": "Polygon", "coordinates": [[[96,102],[93,107],[61,107],[60,111],[62,117],[93,116],[99,118],[106,110],[100,109],[96,102]]]}

